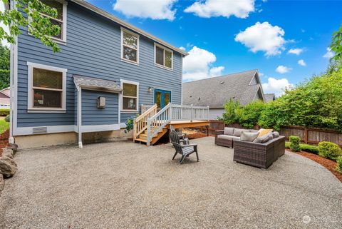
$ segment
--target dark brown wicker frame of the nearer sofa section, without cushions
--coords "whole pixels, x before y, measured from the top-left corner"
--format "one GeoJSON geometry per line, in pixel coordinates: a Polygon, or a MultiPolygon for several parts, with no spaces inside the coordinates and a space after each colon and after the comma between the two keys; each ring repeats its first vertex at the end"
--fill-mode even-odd
{"type": "Polygon", "coordinates": [[[285,137],[279,136],[266,143],[234,141],[234,161],[258,168],[269,168],[285,153],[285,137]]]}

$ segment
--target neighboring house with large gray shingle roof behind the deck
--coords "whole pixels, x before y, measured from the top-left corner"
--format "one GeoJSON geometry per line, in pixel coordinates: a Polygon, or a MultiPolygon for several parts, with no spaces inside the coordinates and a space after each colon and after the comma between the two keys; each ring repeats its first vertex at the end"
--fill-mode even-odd
{"type": "Polygon", "coordinates": [[[241,106],[257,99],[265,101],[257,70],[233,73],[183,83],[183,104],[209,106],[209,119],[224,113],[224,103],[232,98],[241,106]]]}

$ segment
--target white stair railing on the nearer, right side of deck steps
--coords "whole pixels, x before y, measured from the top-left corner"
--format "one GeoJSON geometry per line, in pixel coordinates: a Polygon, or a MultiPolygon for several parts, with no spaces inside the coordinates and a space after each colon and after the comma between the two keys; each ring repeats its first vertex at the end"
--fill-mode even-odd
{"type": "Polygon", "coordinates": [[[158,111],[154,116],[147,119],[147,146],[150,146],[153,136],[162,131],[162,128],[170,122],[171,105],[172,103],[168,103],[167,106],[158,111]]]}

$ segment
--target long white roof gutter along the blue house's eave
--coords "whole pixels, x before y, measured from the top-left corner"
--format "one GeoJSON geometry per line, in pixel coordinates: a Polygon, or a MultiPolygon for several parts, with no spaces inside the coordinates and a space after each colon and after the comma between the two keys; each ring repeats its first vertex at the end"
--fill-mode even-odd
{"type": "Polygon", "coordinates": [[[83,1],[83,0],[71,0],[71,1],[75,2],[76,4],[78,4],[80,6],[85,7],[86,9],[90,9],[91,11],[94,11],[96,14],[100,14],[101,16],[104,16],[107,19],[115,21],[116,23],[120,24],[121,26],[125,26],[128,29],[131,29],[135,32],[138,32],[139,34],[142,34],[143,36],[148,37],[149,39],[157,41],[158,43],[162,44],[163,46],[166,46],[167,48],[172,49],[174,51],[177,51],[178,53],[182,54],[183,56],[189,55],[186,51],[183,51],[182,49],[178,49],[175,46],[172,46],[171,44],[168,44],[167,42],[162,41],[161,39],[158,39],[157,37],[155,37],[151,34],[148,34],[145,31],[142,31],[138,27],[135,27],[131,24],[128,24],[127,22],[119,19],[116,16],[113,16],[113,14],[110,14],[107,11],[104,11],[103,9],[100,9],[100,8],[94,6],[93,4],[90,4],[90,3],[83,1]]]}

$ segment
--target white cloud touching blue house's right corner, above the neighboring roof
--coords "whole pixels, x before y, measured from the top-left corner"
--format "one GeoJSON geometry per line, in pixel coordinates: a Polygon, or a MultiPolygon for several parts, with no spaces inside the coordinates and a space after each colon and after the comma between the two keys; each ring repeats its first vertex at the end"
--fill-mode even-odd
{"type": "Polygon", "coordinates": [[[205,49],[193,46],[183,61],[183,80],[194,81],[222,75],[223,66],[212,67],[216,56],[205,49]]]}

